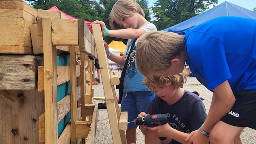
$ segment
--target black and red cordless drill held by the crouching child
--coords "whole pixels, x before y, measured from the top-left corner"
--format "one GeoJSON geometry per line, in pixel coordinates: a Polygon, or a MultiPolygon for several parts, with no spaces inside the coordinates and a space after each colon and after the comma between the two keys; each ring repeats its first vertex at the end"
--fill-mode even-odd
{"type": "Polygon", "coordinates": [[[129,121],[128,123],[135,123],[136,125],[147,125],[149,127],[155,127],[158,125],[164,125],[167,123],[166,114],[152,114],[147,116],[142,116],[134,121],[129,121]]]}

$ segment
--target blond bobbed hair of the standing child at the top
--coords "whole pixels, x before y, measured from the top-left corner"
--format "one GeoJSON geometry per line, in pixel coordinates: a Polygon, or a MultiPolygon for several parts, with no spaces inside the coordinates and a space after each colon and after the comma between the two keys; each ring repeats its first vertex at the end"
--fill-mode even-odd
{"type": "Polygon", "coordinates": [[[134,0],[117,0],[109,13],[108,19],[112,30],[124,29],[123,26],[118,25],[115,21],[119,18],[126,18],[132,15],[132,10],[145,17],[145,13],[141,6],[134,0]]]}

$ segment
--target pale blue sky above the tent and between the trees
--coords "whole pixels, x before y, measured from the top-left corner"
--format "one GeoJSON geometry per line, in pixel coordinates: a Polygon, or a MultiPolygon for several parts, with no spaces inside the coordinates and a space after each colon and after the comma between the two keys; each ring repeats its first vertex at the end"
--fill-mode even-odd
{"type": "MultiPolygon", "coordinates": [[[[148,0],[149,6],[154,6],[154,2],[156,1],[157,0],[148,0]]],[[[251,11],[256,7],[256,0],[219,0],[219,4],[225,1],[236,4],[251,11]]]]}

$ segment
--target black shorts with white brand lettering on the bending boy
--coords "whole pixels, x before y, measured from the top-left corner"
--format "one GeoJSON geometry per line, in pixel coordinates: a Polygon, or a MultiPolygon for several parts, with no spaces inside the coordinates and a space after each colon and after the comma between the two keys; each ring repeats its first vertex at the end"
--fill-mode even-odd
{"type": "Polygon", "coordinates": [[[256,129],[256,90],[243,89],[235,97],[234,106],[221,121],[237,127],[256,129]]]}

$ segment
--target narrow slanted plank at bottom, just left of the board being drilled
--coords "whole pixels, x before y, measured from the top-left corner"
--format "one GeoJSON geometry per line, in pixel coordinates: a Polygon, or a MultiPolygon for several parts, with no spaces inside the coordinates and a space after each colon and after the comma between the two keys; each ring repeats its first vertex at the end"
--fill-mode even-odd
{"type": "Polygon", "coordinates": [[[95,103],[95,107],[93,110],[92,116],[92,123],[91,123],[91,130],[88,133],[86,144],[94,144],[95,136],[96,136],[96,129],[98,123],[99,111],[98,111],[98,103],[95,103]]]}

